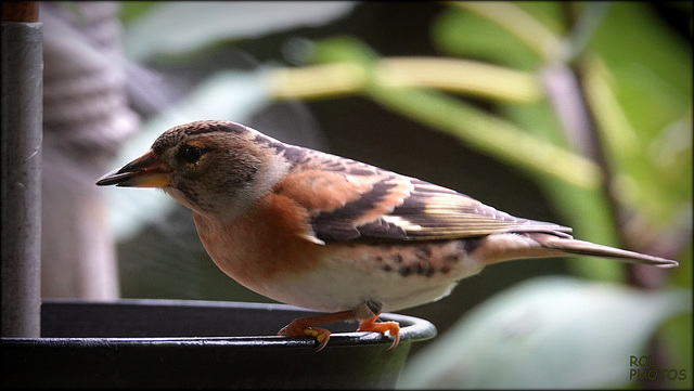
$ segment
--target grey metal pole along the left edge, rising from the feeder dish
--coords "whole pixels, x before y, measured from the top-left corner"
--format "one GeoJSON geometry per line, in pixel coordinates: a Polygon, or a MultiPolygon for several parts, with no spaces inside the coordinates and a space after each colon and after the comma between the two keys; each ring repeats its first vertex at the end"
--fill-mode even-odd
{"type": "Polygon", "coordinates": [[[2,337],[40,337],[43,30],[35,1],[2,2],[2,337]]]}

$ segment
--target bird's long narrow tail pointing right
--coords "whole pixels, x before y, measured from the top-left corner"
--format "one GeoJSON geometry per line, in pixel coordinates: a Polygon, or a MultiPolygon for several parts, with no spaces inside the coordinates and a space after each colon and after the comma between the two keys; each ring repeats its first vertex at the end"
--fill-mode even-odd
{"type": "Polygon", "coordinates": [[[531,234],[531,237],[543,248],[558,250],[565,253],[615,258],[624,262],[651,264],[658,268],[674,268],[679,265],[677,261],[670,259],[653,257],[645,253],[622,250],[609,246],[596,245],[594,243],[584,240],[557,237],[548,234],[531,234]]]}

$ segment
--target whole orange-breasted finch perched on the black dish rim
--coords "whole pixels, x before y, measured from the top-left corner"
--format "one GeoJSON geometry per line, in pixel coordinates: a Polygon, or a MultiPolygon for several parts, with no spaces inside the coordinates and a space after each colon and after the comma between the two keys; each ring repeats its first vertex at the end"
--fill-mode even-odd
{"type": "Polygon", "coordinates": [[[516,218],[454,190],[365,162],[291,145],[228,120],[162,133],[97,185],[157,187],[192,210],[200,239],[231,278],[279,302],[320,312],[280,336],[331,331],[399,342],[382,312],[425,304],[502,261],[596,256],[673,268],[677,261],[573,238],[570,227],[516,218]]]}

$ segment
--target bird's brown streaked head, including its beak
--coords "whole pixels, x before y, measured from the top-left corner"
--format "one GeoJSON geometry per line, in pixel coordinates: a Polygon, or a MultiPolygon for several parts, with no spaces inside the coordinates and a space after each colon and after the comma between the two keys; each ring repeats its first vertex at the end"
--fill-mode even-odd
{"type": "Polygon", "coordinates": [[[158,187],[188,208],[233,218],[286,174],[284,144],[231,121],[174,127],[150,151],[101,178],[100,186],[158,187]]]}

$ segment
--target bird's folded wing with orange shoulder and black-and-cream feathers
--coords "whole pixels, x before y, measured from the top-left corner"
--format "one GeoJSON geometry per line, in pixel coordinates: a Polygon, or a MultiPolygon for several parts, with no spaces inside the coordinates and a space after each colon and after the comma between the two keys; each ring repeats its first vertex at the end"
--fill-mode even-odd
{"type": "MultiPolygon", "coordinates": [[[[277,191],[307,208],[314,242],[436,240],[571,229],[515,218],[453,190],[356,160],[299,148],[277,191]]],[[[312,236],[311,236],[312,235],[312,236]]]]}

